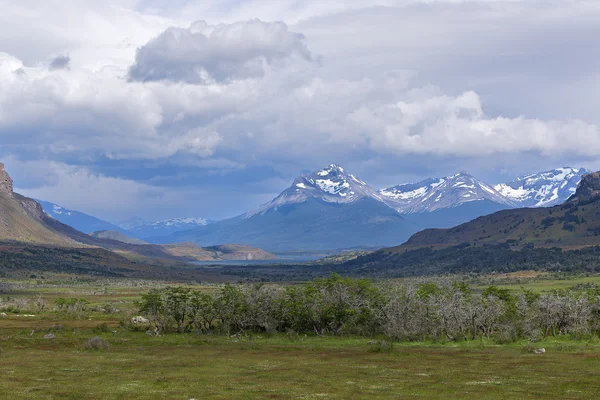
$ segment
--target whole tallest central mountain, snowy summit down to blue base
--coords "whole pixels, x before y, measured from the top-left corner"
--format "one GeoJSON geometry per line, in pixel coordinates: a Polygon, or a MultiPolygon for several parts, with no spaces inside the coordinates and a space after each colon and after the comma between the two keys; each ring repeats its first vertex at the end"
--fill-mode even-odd
{"type": "Polygon", "coordinates": [[[201,246],[240,243],[268,251],[317,251],[385,246],[419,228],[342,167],[329,165],[296,180],[271,202],[225,221],[180,232],[161,242],[201,246]]]}

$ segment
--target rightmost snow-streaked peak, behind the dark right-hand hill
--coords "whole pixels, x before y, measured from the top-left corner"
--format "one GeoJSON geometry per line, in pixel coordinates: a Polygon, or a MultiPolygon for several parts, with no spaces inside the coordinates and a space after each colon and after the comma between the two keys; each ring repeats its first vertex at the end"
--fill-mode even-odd
{"type": "Polygon", "coordinates": [[[575,194],[581,177],[589,172],[585,168],[557,168],[496,185],[495,189],[518,207],[551,207],[575,194]]]}

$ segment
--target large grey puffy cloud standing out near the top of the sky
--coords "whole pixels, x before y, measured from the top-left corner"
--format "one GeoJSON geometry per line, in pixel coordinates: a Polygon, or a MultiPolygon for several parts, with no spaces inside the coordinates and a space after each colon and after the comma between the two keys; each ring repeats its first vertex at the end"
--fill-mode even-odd
{"type": "Polygon", "coordinates": [[[138,49],[129,70],[134,81],[228,82],[262,77],[292,58],[313,61],[304,36],[283,22],[258,19],[189,29],[169,28],[138,49]]]}

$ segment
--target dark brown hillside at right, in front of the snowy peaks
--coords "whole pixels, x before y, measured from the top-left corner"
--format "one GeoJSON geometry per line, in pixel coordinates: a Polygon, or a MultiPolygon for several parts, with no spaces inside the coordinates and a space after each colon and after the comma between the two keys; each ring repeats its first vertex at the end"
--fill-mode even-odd
{"type": "Polygon", "coordinates": [[[575,195],[562,205],[505,210],[451,229],[428,229],[393,251],[463,243],[564,249],[600,245],[600,172],[584,175],[575,195]]]}

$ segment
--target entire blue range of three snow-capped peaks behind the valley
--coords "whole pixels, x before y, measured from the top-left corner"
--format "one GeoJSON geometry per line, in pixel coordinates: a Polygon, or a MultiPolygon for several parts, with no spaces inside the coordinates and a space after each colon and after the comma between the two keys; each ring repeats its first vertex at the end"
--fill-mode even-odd
{"type": "Polygon", "coordinates": [[[275,252],[381,247],[402,243],[423,229],[524,207],[530,199],[536,206],[565,201],[585,172],[561,168],[497,186],[461,172],[375,190],[331,164],[296,178],[272,201],[246,214],[147,240],[201,246],[234,242],[275,252]]]}

